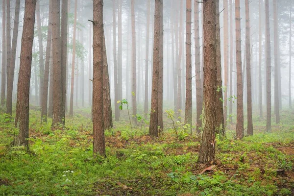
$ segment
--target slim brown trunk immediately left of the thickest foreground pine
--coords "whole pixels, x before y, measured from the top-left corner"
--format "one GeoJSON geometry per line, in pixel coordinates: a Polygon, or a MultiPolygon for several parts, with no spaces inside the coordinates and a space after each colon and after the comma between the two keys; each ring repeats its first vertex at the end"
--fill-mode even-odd
{"type": "Polygon", "coordinates": [[[200,65],[200,37],[199,37],[199,3],[194,2],[194,29],[195,29],[195,74],[196,74],[196,131],[200,133],[202,120],[202,86],[201,86],[201,65],[200,65]]]}

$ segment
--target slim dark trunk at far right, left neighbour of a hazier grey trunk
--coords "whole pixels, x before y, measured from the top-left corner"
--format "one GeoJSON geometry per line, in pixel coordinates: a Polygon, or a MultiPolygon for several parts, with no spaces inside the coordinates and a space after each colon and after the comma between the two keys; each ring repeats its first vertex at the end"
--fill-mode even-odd
{"type": "Polygon", "coordinates": [[[270,60],[270,10],[269,0],[265,0],[266,6],[266,67],[267,67],[267,127],[266,131],[271,129],[271,60],[270,60]]]}

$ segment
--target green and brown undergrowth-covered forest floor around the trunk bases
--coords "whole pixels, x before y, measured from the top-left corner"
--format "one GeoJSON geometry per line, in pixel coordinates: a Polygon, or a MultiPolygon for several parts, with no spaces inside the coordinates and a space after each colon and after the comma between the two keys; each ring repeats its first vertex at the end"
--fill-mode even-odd
{"type": "Polygon", "coordinates": [[[216,163],[203,165],[199,137],[177,123],[176,138],[167,117],[157,139],[147,135],[147,122],[133,131],[126,118],[115,122],[105,131],[104,159],[92,156],[90,109],[55,131],[40,123],[37,109],[30,109],[30,152],[10,146],[17,130],[0,115],[0,196],[294,195],[293,111],[283,111],[271,133],[254,114],[254,136],[242,140],[229,124],[227,138],[217,136],[216,163]]]}

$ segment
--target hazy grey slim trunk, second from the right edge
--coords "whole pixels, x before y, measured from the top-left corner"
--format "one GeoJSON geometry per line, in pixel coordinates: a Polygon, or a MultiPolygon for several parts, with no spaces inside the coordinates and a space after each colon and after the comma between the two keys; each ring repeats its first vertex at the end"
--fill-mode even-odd
{"type": "Polygon", "coordinates": [[[279,32],[277,1],[273,0],[273,34],[274,34],[274,113],[276,123],[280,123],[280,101],[279,101],[279,32]]]}

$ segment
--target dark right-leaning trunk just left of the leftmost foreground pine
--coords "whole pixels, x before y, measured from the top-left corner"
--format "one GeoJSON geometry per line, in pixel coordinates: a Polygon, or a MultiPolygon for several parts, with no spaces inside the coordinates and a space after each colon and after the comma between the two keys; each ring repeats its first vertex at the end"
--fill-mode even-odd
{"type": "Polygon", "coordinates": [[[11,47],[11,64],[9,67],[9,73],[7,74],[7,98],[6,98],[6,113],[12,115],[12,92],[13,92],[13,79],[15,70],[17,37],[20,18],[20,0],[15,0],[15,13],[14,13],[14,25],[13,25],[13,37],[11,47]]]}

